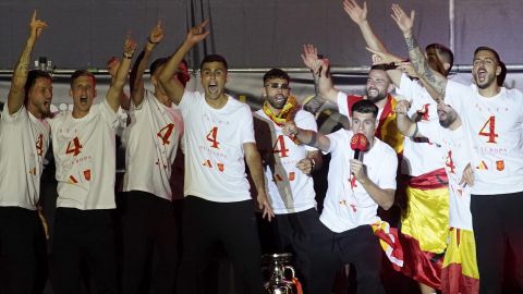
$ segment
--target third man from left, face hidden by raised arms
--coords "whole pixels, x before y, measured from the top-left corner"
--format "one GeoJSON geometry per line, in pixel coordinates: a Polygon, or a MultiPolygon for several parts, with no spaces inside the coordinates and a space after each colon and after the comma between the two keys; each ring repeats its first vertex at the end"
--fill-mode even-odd
{"type": "MultiPolygon", "coordinates": [[[[131,120],[124,131],[126,169],[121,209],[122,292],[129,294],[142,293],[141,286],[149,275],[154,277],[150,289],[155,289],[155,293],[174,291],[179,225],[174,219],[170,179],[183,134],[182,114],[158,82],[166,58],[150,65],[154,91],[144,88],[143,79],[153,50],[162,39],[163,28],[158,22],[131,73],[131,120]],[[150,262],[154,250],[158,258],[150,262]],[[147,272],[147,265],[153,265],[154,274],[147,272]]],[[[182,70],[188,76],[187,68],[182,70]]]]}

